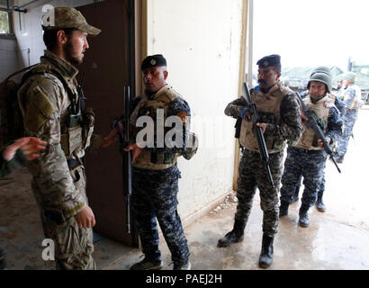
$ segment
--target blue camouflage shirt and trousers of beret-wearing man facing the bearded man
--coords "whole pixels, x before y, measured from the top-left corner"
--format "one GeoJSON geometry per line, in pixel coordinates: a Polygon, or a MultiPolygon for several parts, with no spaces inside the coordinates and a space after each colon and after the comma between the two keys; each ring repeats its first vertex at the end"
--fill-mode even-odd
{"type": "MultiPolygon", "coordinates": [[[[148,100],[152,100],[154,97],[155,94],[149,96],[148,100]]],[[[141,96],[138,96],[130,102],[130,113],[135,110],[140,100],[141,96]]],[[[139,110],[138,117],[142,113],[148,115],[145,110],[139,110]]],[[[176,97],[168,104],[166,117],[181,113],[188,117],[191,116],[188,103],[183,98],[176,97]]],[[[151,161],[153,162],[163,153],[164,155],[182,154],[184,153],[188,130],[189,126],[186,126],[186,129],[183,130],[182,148],[157,148],[157,139],[155,139],[155,147],[144,148],[144,151],[151,153],[151,161]]],[[[158,249],[158,221],[172,254],[173,262],[177,265],[187,264],[190,252],[187,247],[187,240],[184,237],[181,219],[177,212],[178,179],[181,174],[176,163],[166,169],[159,170],[137,168],[134,163],[132,166],[132,208],[137,220],[139,238],[145,257],[155,262],[161,260],[161,253],[158,249]]]]}

